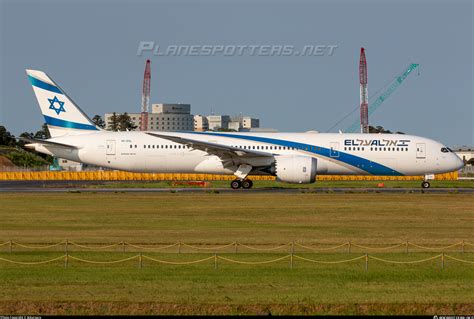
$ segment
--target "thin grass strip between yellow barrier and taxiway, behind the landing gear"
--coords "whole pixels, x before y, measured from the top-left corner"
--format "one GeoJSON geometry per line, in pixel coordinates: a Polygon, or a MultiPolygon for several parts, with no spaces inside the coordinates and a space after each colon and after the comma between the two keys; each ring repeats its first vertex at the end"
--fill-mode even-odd
{"type": "MultiPolygon", "coordinates": [[[[171,181],[162,182],[105,182],[101,185],[90,185],[91,188],[183,188],[199,186],[183,184],[175,185],[171,181]]],[[[378,185],[384,184],[384,188],[420,188],[421,181],[317,181],[313,184],[287,184],[275,181],[254,181],[254,188],[376,188],[378,185]]],[[[456,180],[456,181],[430,181],[433,188],[474,188],[474,180],[456,180]]],[[[228,188],[230,181],[212,181],[211,188],[228,188]]]]}

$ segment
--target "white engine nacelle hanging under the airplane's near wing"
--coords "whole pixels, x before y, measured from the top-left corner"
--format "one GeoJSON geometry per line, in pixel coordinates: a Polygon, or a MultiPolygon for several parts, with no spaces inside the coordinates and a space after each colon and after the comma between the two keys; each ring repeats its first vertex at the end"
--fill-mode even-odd
{"type": "Polygon", "coordinates": [[[316,181],[318,161],[301,155],[275,156],[277,180],[286,183],[308,184],[316,181]]]}

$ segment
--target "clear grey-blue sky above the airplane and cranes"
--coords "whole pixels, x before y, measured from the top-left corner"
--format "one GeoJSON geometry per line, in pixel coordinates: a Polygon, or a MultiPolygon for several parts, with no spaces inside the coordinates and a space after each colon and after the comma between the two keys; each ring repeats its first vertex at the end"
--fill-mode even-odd
{"type": "MultiPolygon", "coordinates": [[[[359,104],[366,49],[369,96],[410,63],[419,73],[370,117],[372,125],[474,144],[472,1],[0,0],[0,125],[43,123],[25,69],[48,73],[90,117],[139,112],[151,60],[151,103],[194,114],[242,113],[280,132],[325,132],[359,104]],[[169,46],[334,46],[332,55],[137,55],[169,46]]],[[[346,130],[358,111],[332,129],[346,130]]]]}

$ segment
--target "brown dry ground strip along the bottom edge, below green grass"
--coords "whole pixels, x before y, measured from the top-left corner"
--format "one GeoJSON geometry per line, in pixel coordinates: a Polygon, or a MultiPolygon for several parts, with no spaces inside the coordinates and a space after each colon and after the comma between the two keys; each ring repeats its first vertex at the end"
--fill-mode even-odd
{"type": "Polygon", "coordinates": [[[467,315],[474,304],[166,304],[2,301],[4,315],[467,315]]]}

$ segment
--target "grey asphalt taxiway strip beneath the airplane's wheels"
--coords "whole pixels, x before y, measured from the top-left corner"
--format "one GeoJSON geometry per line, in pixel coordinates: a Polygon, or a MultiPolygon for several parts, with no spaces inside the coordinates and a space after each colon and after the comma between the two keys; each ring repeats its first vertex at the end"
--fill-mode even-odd
{"type": "Polygon", "coordinates": [[[0,181],[0,193],[474,193],[474,188],[110,188],[100,181],[0,181]],[[87,187],[95,185],[96,187],[87,187]]]}

